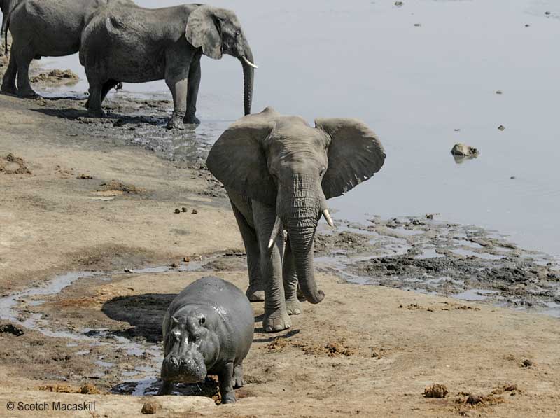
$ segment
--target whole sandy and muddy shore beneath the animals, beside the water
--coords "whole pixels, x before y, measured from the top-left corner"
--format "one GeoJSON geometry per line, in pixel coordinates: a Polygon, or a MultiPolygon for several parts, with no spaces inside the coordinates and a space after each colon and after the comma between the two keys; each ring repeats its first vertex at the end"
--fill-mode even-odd
{"type": "MultiPolygon", "coordinates": [[[[216,407],[211,381],[177,392],[199,396],[153,398],[169,301],[207,274],[245,288],[242,242],[221,186],[201,167],[204,146],[177,162],[125,137],[127,118],[165,134],[158,115],[169,104],[113,102],[114,115],[104,120],[88,119],[82,106],[0,95],[0,414],[8,401],[94,400],[93,416],[131,416],[153,400],[168,417],[557,415],[557,319],[496,307],[495,300],[350,284],[337,269],[346,257],[344,272],[391,286],[393,271],[425,277],[414,270],[423,264],[410,260],[437,266],[443,256],[444,274],[456,280],[453,274],[469,268],[498,268],[482,253],[500,253],[512,263],[532,257],[527,262],[542,267],[521,275],[524,295],[534,286],[554,291],[557,267],[542,265],[538,254],[437,219],[335,219],[339,229],[321,230],[316,254],[325,300],[305,303],[293,328],[277,334],[262,333],[262,303],[253,304],[255,340],[236,405],[216,407]],[[155,123],[141,119],[148,117],[142,105],[155,123]],[[119,106],[138,109],[123,116],[130,113],[119,106]],[[485,250],[457,239],[477,240],[485,250]],[[363,259],[353,263],[355,256],[363,259]],[[378,268],[372,256],[394,267],[378,268]],[[486,261],[492,264],[480,265],[486,261]],[[447,387],[446,397],[423,396],[435,383],[447,387]]],[[[193,135],[193,143],[204,143],[193,135]]],[[[476,288],[493,288],[472,279],[476,288]]],[[[455,284],[449,294],[459,291],[455,284]]]]}

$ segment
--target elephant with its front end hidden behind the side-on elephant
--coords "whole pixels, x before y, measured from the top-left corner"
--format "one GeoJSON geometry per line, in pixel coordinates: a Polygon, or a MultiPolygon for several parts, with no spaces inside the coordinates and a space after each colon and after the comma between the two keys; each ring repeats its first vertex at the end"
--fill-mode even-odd
{"type": "MultiPolygon", "coordinates": [[[[37,95],[29,84],[29,64],[32,60],[77,53],[82,30],[99,8],[108,5],[134,6],[130,0],[3,1],[12,1],[5,27],[12,34],[12,49],[1,90],[17,93],[20,97],[37,95]]],[[[6,13],[3,16],[6,18],[6,13]]]]}

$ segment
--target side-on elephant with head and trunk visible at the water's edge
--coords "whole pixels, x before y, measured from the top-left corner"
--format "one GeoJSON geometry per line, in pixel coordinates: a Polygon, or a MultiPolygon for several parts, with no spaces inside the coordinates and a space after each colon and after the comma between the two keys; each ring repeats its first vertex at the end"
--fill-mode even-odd
{"type": "Polygon", "coordinates": [[[202,54],[226,53],[243,66],[244,110],[251,113],[253,53],[234,12],[199,4],[147,9],[111,8],[84,29],[80,62],[90,82],[88,109],[104,116],[102,102],[117,81],[165,79],[174,111],[167,127],[200,123],[196,104],[202,54]]]}

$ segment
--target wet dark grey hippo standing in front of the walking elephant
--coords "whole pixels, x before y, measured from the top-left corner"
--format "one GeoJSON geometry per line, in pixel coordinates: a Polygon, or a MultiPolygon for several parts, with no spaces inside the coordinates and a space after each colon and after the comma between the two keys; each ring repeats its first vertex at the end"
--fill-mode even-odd
{"type": "Polygon", "coordinates": [[[243,360],[253,342],[255,320],[245,293],[218,277],[188,285],[169,305],[163,320],[163,385],[203,382],[217,375],[222,403],[235,403],[244,385],[243,360]]]}

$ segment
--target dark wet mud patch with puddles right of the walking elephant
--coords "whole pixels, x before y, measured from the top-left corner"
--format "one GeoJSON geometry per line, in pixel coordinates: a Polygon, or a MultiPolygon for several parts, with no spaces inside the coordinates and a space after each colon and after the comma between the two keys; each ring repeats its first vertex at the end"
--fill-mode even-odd
{"type": "Polygon", "coordinates": [[[339,229],[318,235],[318,265],[353,283],[560,316],[557,258],[496,232],[428,218],[374,218],[339,229]]]}

